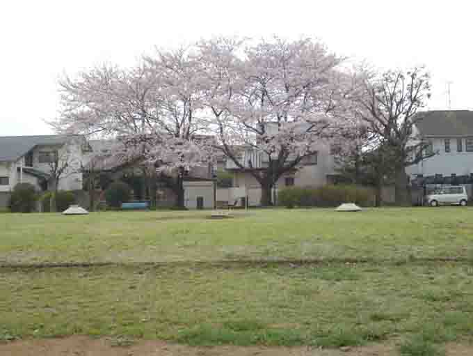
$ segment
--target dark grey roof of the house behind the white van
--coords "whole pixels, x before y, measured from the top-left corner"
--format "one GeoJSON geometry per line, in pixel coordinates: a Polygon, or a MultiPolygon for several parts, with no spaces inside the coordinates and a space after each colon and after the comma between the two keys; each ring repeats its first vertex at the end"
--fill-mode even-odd
{"type": "Polygon", "coordinates": [[[416,121],[422,136],[473,136],[473,111],[424,111],[417,114],[416,121]]]}

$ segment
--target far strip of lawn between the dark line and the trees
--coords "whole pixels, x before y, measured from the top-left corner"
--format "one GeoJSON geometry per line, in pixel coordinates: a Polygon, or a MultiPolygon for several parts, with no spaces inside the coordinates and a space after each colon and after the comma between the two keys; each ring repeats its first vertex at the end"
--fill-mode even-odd
{"type": "Polygon", "coordinates": [[[473,257],[473,208],[0,215],[0,263],[473,257]]]}

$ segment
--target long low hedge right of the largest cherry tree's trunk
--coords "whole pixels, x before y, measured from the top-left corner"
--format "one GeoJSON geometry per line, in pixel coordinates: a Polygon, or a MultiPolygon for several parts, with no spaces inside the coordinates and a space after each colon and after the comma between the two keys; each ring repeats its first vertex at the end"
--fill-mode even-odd
{"type": "Polygon", "coordinates": [[[360,206],[370,206],[373,192],[366,187],[356,185],[325,185],[319,188],[289,187],[278,193],[278,203],[286,208],[331,207],[352,202],[360,206]]]}

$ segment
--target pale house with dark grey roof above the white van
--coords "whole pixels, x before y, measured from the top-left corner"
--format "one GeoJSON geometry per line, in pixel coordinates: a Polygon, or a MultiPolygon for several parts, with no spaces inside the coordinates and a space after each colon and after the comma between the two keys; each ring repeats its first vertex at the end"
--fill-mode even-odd
{"type": "Polygon", "coordinates": [[[473,111],[426,111],[418,114],[415,134],[428,141],[432,157],[406,169],[411,178],[470,178],[473,173],[473,111]]]}

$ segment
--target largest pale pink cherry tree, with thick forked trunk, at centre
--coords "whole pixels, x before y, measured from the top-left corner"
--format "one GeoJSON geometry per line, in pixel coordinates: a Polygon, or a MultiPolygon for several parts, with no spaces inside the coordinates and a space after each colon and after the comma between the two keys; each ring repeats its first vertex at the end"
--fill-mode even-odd
{"type": "Polygon", "coordinates": [[[310,39],[274,38],[246,47],[217,39],[202,42],[200,51],[218,148],[257,180],[262,205],[271,205],[278,179],[316,154],[322,141],[344,132],[350,77],[340,71],[342,58],[310,39]],[[268,164],[243,162],[242,149],[268,164]]]}

